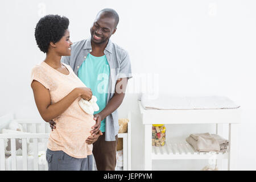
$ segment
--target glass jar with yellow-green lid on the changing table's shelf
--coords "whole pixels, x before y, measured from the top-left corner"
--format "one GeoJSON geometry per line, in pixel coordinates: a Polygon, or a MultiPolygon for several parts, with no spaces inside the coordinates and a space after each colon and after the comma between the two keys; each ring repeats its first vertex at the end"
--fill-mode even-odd
{"type": "Polygon", "coordinates": [[[162,124],[152,125],[152,146],[164,146],[166,143],[166,127],[162,124]]]}

